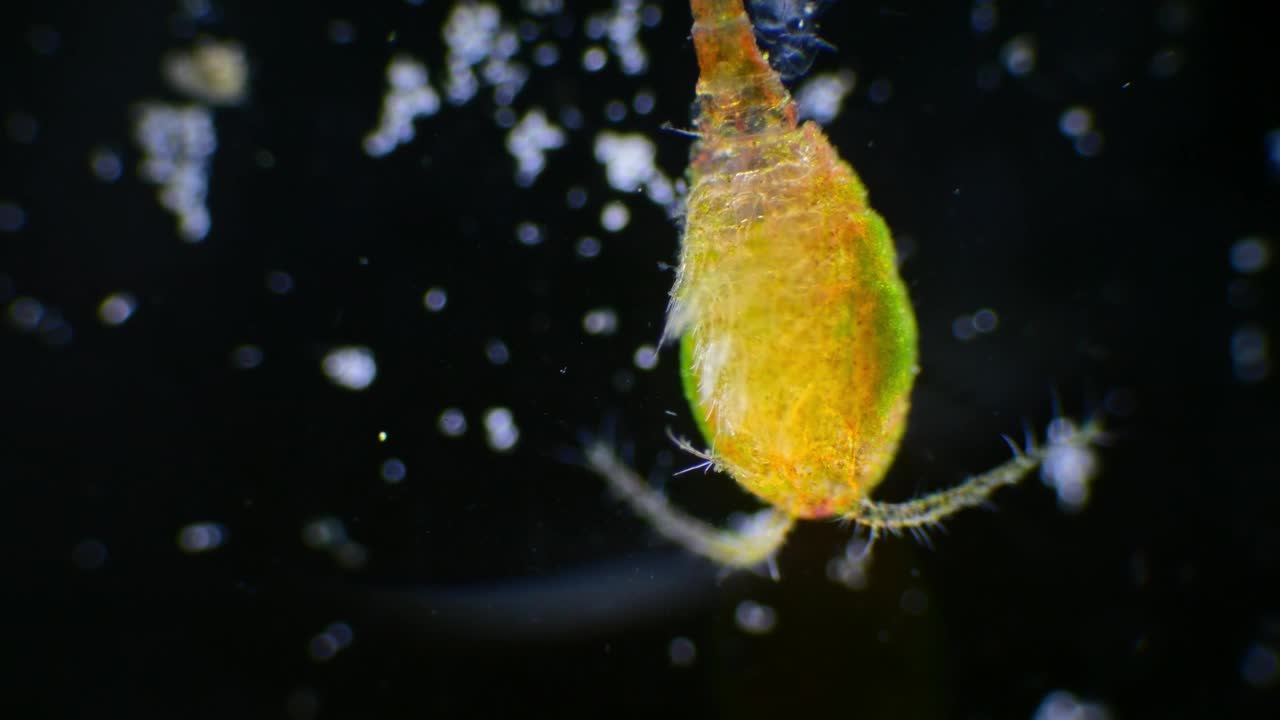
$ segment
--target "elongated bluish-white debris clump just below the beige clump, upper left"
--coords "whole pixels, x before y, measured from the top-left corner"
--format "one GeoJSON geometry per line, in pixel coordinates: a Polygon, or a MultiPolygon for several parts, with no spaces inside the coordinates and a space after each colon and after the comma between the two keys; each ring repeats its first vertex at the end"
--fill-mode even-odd
{"type": "Polygon", "coordinates": [[[159,184],[160,205],[178,215],[178,232],[187,242],[209,234],[209,159],[218,147],[212,113],[201,105],[138,106],[134,137],[142,147],[138,173],[159,184]]]}

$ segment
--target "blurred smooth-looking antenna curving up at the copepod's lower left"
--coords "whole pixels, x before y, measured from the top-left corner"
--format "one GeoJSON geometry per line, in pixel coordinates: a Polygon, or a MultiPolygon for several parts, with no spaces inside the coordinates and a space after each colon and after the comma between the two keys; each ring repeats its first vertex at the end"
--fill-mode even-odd
{"type": "Polygon", "coordinates": [[[586,466],[604,478],[609,487],[645,519],[658,534],[684,548],[740,569],[772,568],[795,519],[777,510],[763,510],[740,529],[721,529],[694,518],[667,502],[667,497],[646,482],[613,450],[600,442],[586,447],[586,466]]]}

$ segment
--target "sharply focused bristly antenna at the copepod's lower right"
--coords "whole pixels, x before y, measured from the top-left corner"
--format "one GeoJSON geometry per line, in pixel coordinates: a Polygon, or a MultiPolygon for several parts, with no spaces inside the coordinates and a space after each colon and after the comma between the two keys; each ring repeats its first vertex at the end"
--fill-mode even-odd
{"type": "Polygon", "coordinates": [[[1014,457],[980,475],[974,475],[956,487],[929,493],[906,502],[878,502],[863,500],[858,509],[845,516],[867,525],[872,536],[881,530],[900,534],[902,530],[928,530],[941,525],[948,515],[966,507],[986,505],[991,496],[1005,486],[1018,484],[1032,470],[1039,468],[1055,452],[1062,450],[1089,451],[1102,438],[1102,423],[1089,420],[1084,427],[1074,427],[1055,437],[1046,446],[1028,443],[1025,450],[1014,447],[1014,457]]]}

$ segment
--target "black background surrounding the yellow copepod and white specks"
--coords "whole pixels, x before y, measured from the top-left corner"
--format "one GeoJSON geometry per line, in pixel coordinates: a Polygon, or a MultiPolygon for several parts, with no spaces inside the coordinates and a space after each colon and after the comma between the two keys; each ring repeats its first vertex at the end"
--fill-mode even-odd
{"type": "MultiPolygon", "coordinates": [[[[530,188],[488,88],[387,158],[361,150],[394,51],[440,87],[448,3],[4,10],[0,202],[26,218],[0,233],[5,716],[1030,717],[1055,689],[1114,717],[1276,716],[1276,392],[1231,356],[1239,328],[1274,325],[1275,268],[1229,263],[1240,238],[1280,232],[1274,24],[1252,4],[1180,1],[1000,4],[987,33],[965,3],[826,14],[838,51],[814,72],[858,74],[827,129],[911,247],[922,329],[879,496],[1002,461],[1000,434],[1042,428],[1055,392],[1076,416],[1117,411],[1083,512],[1033,479],[932,548],[882,541],[855,592],[826,574],[847,528],[801,527],[781,582],[718,579],[572,464],[600,428],[645,471],[690,462],[664,434],[695,432],[675,354],[652,372],[631,360],[659,333],[678,231],[608,187],[591,140],[644,133],[678,176],[687,138],[660,126],[687,124],[695,64],[687,8],[669,3],[640,33],[648,73],[612,56],[586,73],[584,19],[609,5],[567,4],[532,18],[561,60],[534,67],[512,106],[585,122],[530,188]],[[338,19],[351,42],[334,42],[338,19]],[[175,97],[161,55],[200,33],[242,42],[252,76],[250,100],[215,114],[212,231],[188,245],[134,172],[131,109],[175,97]],[[980,88],[1020,33],[1034,72],[980,88]],[[886,102],[868,97],[876,78],[886,102]],[[605,119],[639,91],[653,113],[605,119]],[[1093,111],[1096,156],[1057,128],[1071,105],[1093,111]],[[90,172],[95,147],[119,154],[118,182],[90,172]],[[631,223],[607,233],[616,199],[631,223]],[[540,245],[517,241],[525,220],[540,245]],[[582,236],[599,258],[576,255],[582,236]],[[271,292],[271,272],[293,290],[271,292]],[[448,291],[439,314],[422,309],[433,286],[448,291]],[[97,306],[116,291],[138,307],[106,327],[97,306]],[[23,332],[20,297],[70,333],[23,332]],[[595,307],[617,313],[616,334],[584,333],[595,307]],[[952,320],[979,307],[997,331],[956,340],[952,320]],[[486,360],[492,338],[506,365],[486,360]],[[234,366],[244,343],[260,366],[234,366]],[[343,345],[374,351],[369,389],[321,373],[343,345]],[[485,442],[493,406],[520,428],[509,454],[485,442]],[[436,429],[445,407],[466,414],[461,438],[436,429]],[[393,457],[398,484],[379,470],[393,457]],[[324,516],[364,562],[303,543],[324,516]],[[179,530],[202,521],[224,544],[184,552],[179,530]],[[744,600],[776,610],[771,633],[737,626],[744,600]],[[315,638],[333,623],[352,642],[324,660],[315,638]],[[677,637],[696,647],[687,667],[668,656],[677,637]]],[[[529,15],[508,1],[503,18],[529,15]]],[[[667,487],[716,521],[754,507],[724,477],[667,487]]]]}

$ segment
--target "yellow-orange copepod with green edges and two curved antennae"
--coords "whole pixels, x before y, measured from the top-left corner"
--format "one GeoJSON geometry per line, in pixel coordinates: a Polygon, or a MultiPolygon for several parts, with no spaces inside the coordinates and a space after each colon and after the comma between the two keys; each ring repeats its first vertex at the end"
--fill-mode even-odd
{"type": "MultiPolygon", "coordinates": [[[[685,450],[771,507],[721,529],[671,506],[604,443],[602,475],[662,536],[730,568],[772,562],[799,519],[923,532],[1044,460],[1014,457],[906,502],[869,498],[906,428],[915,315],[867,188],[813,122],[799,124],[742,0],[691,0],[698,114],[664,342],[708,450],[685,450]]],[[[1074,427],[1073,427],[1074,428],[1074,427]]],[[[1060,433],[1087,448],[1096,421],[1060,433]]]]}

